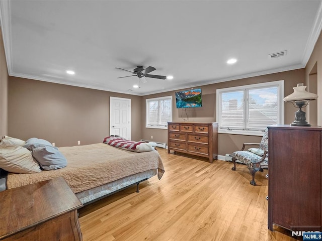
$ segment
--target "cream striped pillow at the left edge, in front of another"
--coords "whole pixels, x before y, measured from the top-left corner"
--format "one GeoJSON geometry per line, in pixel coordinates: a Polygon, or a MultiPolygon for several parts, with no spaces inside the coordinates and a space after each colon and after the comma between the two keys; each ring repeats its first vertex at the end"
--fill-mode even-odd
{"type": "Polygon", "coordinates": [[[0,168],[14,173],[41,172],[27,148],[10,144],[0,145],[0,168]]]}

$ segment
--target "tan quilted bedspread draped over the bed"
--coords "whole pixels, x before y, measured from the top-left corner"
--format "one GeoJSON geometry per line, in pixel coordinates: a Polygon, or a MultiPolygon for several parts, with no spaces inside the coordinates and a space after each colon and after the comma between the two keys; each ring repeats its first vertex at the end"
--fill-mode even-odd
{"type": "Polygon", "coordinates": [[[160,179],[165,172],[157,151],[130,152],[104,143],[61,147],[67,166],[33,174],[9,173],[7,188],[24,186],[54,177],[63,177],[74,193],[85,191],[117,179],[150,169],[158,170],[160,179]]]}

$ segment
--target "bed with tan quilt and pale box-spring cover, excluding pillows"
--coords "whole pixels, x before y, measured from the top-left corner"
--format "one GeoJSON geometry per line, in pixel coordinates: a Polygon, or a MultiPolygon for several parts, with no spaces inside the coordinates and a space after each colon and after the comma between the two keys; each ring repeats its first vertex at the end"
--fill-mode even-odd
{"type": "MultiPolygon", "coordinates": [[[[105,143],[61,147],[67,166],[38,173],[6,175],[6,188],[24,186],[55,177],[63,177],[72,191],[86,205],[111,193],[164,174],[158,152],[130,152],[105,143]]],[[[138,191],[138,189],[137,189],[138,191]]]]}

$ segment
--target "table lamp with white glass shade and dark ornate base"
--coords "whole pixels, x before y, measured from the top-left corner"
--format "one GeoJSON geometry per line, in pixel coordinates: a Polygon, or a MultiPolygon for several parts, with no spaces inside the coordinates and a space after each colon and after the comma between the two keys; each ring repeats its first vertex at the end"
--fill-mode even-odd
{"type": "Polygon", "coordinates": [[[310,127],[311,125],[306,122],[305,112],[302,111],[309,101],[317,99],[317,94],[307,92],[306,86],[303,83],[297,84],[296,87],[293,87],[294,92],[286,96],[283,100],[285,102],[292,102],[294,107],[299,108],[295,112],[295,120],[291,126],[297,127],[310,127]]]}

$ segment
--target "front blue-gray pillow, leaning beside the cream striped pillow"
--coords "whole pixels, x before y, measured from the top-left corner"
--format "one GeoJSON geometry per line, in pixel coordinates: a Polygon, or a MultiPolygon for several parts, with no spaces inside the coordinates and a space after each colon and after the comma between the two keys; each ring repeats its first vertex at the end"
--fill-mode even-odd
{"type": "Polygon", "coordinates": [[[32,149],[32,156],[44,170],[57,170],[67,166],[66,158],[57,147],[47,145],[35,147],[32,149]]]}

